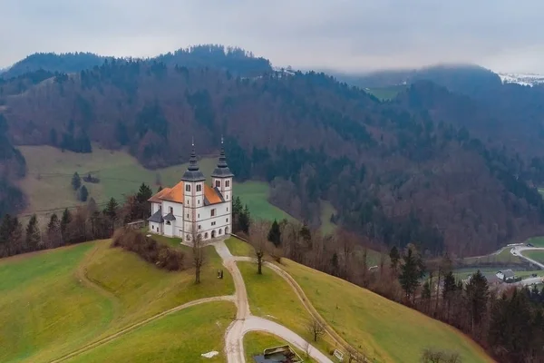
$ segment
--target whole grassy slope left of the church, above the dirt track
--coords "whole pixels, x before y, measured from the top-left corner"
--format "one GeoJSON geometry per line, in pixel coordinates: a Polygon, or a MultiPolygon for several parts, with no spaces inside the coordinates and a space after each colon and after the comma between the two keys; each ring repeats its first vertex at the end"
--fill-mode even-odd
{"type": "Polygon", "coordinates": [[[230,275],[216,278],[219,256],[207,255],[200,285],[191,269],[156,269],[109,241],[0,260],[0,361],[59,358],[185,302],[232,294],[230,275]]]}

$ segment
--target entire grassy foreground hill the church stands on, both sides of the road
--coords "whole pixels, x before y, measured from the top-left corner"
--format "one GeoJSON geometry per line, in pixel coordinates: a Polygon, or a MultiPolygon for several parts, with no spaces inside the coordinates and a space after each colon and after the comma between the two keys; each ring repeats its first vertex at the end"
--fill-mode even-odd
{"type": "MultiPolygon", "coordinates": [[[[179,246],[175,240],[163,241],[179,246]]],[[[240,240],[228,240],[228,248],[237,255],[252,255],[251,248],[240,240]]],[[[315,314],[312,311],[325,319],[335,333],[313,343],[316,350],[311,354],[317,361],[330,357],[335,339],[379,362],[398,361],[399,354],[415,361],[423,348],[456,351],[463,362],[491,361],[459,331],[343,280],[290,260],[281,265],[269,263],[264,275],[258,276],[248,261],[232,265],[247,257],[232,257],[220,247],[219,254],[211,246],[206,250],[209,262],[199,285],[193,284],[190,268],[159,270],[131,252],[110,248],[109,240],[0,260],[0,331],[2,346],[8,347],[0,351],[1,360],[225,361],[223,338],[236,311],[229,296],[235,286],[239,289],[237,276],[241,276],[253,314],[247,324],[261,321],[257,326],[263,327],[260,324],[271,321],[270,327],[285,326],[292,332],[286,330],[282,337],[287,341],[295,337],[311,340],[306,319],[315,314]],[[219,280],[221,263],[228,270],[219,280]],[[278,268],[290,278],[282,279],[275,272],[278,268]],[[336,298],[328,299],[332,290],[336,298]],[[271,291],[281,293],[271,295],[271,291]],[[306,302],[299,294],[306,295],[306,302]],[[210,297],[224,298],[209,301],[210,297]],[[308,301],[311,305],[306,306],[308,301]],[[219,355],[200,356],[209,351],[219,355]]],[[[267,348],[259,344],[270,339],[256,338],[251,335],[252,351],[267,348]]],[[[299,338],[289,343],[300,348],[299,338]]]]}

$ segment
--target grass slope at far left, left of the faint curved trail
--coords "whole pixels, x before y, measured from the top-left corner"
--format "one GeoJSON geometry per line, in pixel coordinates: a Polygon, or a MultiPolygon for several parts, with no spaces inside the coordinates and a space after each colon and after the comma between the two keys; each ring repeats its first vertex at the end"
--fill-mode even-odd
{"type": "Polygon", "coordinates": [[[74,273],[92,248],[0,260],[0,361],[46,361],[107,329],[113,302],[74,273]]]}

